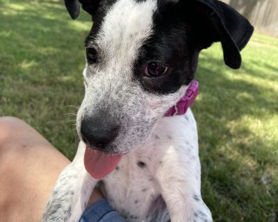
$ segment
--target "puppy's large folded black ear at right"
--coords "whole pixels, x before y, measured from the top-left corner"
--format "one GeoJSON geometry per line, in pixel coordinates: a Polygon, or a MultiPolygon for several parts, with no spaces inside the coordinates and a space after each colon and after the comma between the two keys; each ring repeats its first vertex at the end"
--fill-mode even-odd
{"type": "Polygon", "coordinates": [[[206,21],[206,40],[210,44],[221,42],[225,64],[232,69],[240,68],[240,50],[250,40],[254,27],[243,15],[221,1],[196,1],[197,10],[200,15],[204,15],[203,21],[206,21]]]}

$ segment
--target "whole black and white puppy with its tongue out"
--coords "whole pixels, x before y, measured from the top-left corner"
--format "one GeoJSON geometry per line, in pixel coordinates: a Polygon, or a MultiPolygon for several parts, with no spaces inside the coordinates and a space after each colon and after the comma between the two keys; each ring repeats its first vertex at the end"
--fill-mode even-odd
{"type": "MultiPolygon", "coordinates": [[[[193,113],[168,110],[190,94],[199,52],[213,42],[227,66],[240,67],[252,25],[215,0],[80,2],[94,21],[76,119],[81,142],[42,221],[78,221],[95,186],[128,221],[212,221],[193,113]]],[[[76,19],[79,2],[65,6],[76,19]]]]}

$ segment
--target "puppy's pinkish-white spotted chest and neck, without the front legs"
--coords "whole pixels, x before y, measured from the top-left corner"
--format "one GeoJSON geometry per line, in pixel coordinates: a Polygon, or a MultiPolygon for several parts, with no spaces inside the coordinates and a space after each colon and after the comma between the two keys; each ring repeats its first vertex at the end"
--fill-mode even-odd
{"type": "Polygon", "coordinates": [[[176,159],[181,158],[183,162],[183,157],[190,154],[189,149],[191,155],[197,155],[197,138],[193,135],[197,135],[197,129],[191,112],[185,117],[161,121],[145,144],[124,155],[116,169],[100,182],[112,207],[128,221],[154,221],[154,218],[167,221],[169,214],[161,197],[157,172],[166,156],[177,164],[176,159]]]}

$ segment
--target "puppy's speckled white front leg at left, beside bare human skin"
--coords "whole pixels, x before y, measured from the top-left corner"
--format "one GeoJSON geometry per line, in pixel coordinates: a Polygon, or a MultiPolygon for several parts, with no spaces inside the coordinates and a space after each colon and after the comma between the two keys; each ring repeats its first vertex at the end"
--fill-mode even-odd
{"type": "Polygon", "coordinates": [[[79,143],[74,160],[60,173],[42,216],[42,222],[79,221],[97,184],[83,164],[85,144],[79,143]]]}

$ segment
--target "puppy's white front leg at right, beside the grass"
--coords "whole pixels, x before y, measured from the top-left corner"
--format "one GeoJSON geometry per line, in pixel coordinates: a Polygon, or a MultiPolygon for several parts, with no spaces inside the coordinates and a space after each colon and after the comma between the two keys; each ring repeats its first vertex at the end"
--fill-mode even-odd
{"type": "Polygon", "coordinates": [[[172,222],[213,221],[202,200],[199,156],[194,150],[170,148],[158,167],[161,194],[172,222]]]}

